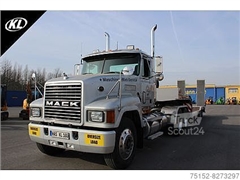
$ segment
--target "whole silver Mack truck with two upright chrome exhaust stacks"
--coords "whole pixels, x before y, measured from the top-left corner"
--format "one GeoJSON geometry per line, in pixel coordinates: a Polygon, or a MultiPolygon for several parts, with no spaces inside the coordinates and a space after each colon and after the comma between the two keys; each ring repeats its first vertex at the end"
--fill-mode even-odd
{"type": "Polygon", "coordinates": [[[56,155],[65,150],[103,154],[113,169],[125,169],[144,139],[155,139],[168,128],[188,126],[179,120],[201,116],[204,107],[192,107],[188,98],[162,101],[162,58],[134,46],[96,51],[82,58],[79,75],[51,79],[44,97],[31,103],[29,136],[39,150],[56,155]],[[181,118],[180,118],[181,119],[181,118]]]}

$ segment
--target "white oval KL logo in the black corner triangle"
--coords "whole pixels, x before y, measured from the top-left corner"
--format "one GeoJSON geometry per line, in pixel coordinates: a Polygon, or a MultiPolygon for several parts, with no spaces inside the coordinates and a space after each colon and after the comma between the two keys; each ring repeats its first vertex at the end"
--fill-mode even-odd
{"type": "Polygon", "coordinates": [[[26,27],[27,23],[28,22],[25,18],[16,17],[16,18],[9,20],[5,24],[5,29],[10,32],[20,31],[21,29],[26,27]]]}

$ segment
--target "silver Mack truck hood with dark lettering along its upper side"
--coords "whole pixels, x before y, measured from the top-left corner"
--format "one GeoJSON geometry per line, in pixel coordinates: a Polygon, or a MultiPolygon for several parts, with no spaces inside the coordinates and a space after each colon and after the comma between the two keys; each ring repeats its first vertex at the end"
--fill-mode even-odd
{"type": "MultiPolygon", "coordinates": [[[[64,79],[63,77],[49,80],[47,84],[71,84],[79,82],[82,84],[82,105],[87,105],[98,99],[118,96],[119,84],[112,90],[114,84],[119,80],[119,74],[95,74],[77,75],[64,79]]],[[[122,95],[136,96],[139,87],[139,77],[135,75],[121,75],[122,95]]]]}

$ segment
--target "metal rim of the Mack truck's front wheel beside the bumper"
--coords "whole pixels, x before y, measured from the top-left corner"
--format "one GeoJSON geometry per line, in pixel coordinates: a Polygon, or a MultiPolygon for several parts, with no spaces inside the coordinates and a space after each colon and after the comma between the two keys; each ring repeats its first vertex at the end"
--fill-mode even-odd
{"type": "Polygon", "coordinates": [[[122,157],[122,159],[127,160],[134,148],[134,138],[132,131],[130,129],[125,129],[119,140],[119,154],[122,157]]]}

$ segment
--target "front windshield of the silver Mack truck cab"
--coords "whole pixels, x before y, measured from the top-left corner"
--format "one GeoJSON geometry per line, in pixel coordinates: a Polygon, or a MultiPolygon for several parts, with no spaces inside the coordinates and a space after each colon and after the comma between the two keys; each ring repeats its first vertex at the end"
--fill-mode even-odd
{"type": "Polygon", "coordinates": [[[132,68],[133,74],[139,74],[140,54],[116,53],[104,54],[83,59],[82,74],[120,73],[124,68],[132,68]]]}

